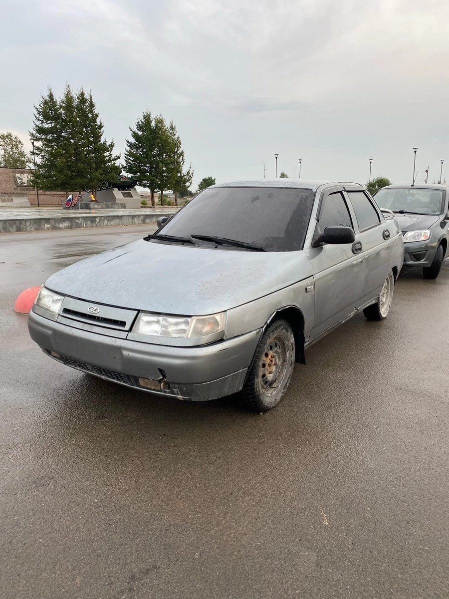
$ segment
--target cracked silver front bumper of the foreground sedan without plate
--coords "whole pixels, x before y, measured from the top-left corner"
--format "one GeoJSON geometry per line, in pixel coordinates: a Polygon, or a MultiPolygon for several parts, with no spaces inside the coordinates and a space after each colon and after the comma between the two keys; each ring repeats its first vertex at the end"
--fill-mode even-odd
{"type": "Polygon", "coordinates": [[[241,391],[261,333],[200,347],[163,346],[98,335],[34,311],[29,313],[28,329],[45,353],[72,368],[142,391],[196,401],[241,391]],[[163,381],[165,388],[145,388],[139,379],[163,381]]]}

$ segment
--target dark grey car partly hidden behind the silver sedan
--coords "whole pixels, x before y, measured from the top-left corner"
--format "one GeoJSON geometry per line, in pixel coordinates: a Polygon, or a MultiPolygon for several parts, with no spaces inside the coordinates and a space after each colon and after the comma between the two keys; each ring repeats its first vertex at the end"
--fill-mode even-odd
{"type": "Polygon", "coordinates": [[[449,241],[449,187],[389,185],[375,193],[381,210],[395,214],[404,235],[404,265],[423,269],[436,279],[449,241]]]}

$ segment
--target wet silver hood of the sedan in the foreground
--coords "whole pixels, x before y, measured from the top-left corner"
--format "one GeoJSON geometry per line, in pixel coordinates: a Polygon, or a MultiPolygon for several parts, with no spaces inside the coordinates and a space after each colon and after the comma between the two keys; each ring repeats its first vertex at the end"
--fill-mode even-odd
{"type": "Polygon", "coordinates": [[[229,310],[311,275],[305,252],[139,240],[72,264],[45,286],[93,303],[190,316],[229,310]]]}

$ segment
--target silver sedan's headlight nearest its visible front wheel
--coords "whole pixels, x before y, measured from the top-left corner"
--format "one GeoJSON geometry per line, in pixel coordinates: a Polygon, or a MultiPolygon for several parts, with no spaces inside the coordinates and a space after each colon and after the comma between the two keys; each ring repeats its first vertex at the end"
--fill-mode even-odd
{"type": "Polygon", "coordinates": [[[225,312],[211,316],[163,316],[141,312],[132,332],[157,337],[195,339],[208,337],[225,330],[225,312]]]}

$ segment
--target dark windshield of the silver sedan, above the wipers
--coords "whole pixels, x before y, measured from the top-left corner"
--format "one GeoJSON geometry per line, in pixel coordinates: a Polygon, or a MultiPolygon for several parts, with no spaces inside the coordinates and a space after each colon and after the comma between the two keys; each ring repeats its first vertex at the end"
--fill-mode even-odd
{"type": "Polygon", "coordinates": [[[312,204],[311,189],[213,187],[187,204],[160,233],[212,236],[268,252],[295,252],[304,244],[312,204]]]}

